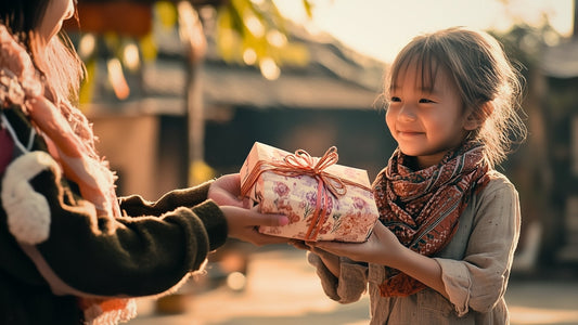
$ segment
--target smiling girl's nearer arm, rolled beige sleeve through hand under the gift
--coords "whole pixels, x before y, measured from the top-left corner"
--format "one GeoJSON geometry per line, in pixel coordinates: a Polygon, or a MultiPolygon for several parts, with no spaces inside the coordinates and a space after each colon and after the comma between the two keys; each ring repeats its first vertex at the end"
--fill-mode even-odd
{"type": "Polygon", "coordinates": [[[448,298],[460,315],[470,308],[487,312],[505,292],[519,236],[519,202],[508,179],[494,174],[471,205],[473,223],[467,243],[460,244],[465,246],[461,259],[429,258],[410,251],[381,223],[362,244],[311,245],[356,261],[398,269],[448,298]]]}

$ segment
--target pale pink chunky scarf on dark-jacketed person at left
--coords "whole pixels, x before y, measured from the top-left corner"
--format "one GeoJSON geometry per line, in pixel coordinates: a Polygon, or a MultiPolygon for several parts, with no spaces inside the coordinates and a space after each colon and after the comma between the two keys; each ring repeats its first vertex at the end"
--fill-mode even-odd
{"type": "MultiPolygon", "coordinates": [[[[0,109],[10,104],[20,106],[47,142],[66,179],[78,184],[81,196],[94,205],[97,213],[121,217],[115,174],[95,153],[88,121],[78,108],[55,98],[50,87],[40,81],[25,49],[0,25],[0,109]]],[[[127,322],[137,311],[133,299],[127,298],[79,297],[78,304],[85,323],[90,325],[127,322]]]]}

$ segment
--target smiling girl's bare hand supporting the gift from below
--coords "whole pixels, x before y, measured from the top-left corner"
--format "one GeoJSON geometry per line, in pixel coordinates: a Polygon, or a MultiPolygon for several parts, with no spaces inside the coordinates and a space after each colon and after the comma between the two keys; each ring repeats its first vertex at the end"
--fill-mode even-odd
{"type": "Polygon", "coordinates": [[[398,258],[400,251],[406,249],[396,235],[381,222],[375,223],[372,234],[364,243],[316,242],[308,245],[354,261],[381,265],[389,265],[390,261],[398,258]]]}

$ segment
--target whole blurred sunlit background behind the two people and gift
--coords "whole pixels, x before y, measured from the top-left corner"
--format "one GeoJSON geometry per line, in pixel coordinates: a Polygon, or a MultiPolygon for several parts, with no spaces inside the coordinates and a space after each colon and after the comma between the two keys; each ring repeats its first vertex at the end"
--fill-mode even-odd
{"type": "MultiPolygon", "coordinates": [[[[339,164],[385,166],[395,143],[383,74],[414,36],[487,30],[526,79],[529,130],[499,166],[523,229],[506,299],[512,324],[578,324],[578,41],[573,0],[190,0],[79,2],[67,25],[87,65],[79,106],[120,195],[237,172],[255,141],[339,164]],[[119,141],[121,140],[121,141],[119,141]]],[[[142,299],[145,324],[368,323],[368,298],[329,300],[304,252],[231,240],[206,274],[142,299]]]]}

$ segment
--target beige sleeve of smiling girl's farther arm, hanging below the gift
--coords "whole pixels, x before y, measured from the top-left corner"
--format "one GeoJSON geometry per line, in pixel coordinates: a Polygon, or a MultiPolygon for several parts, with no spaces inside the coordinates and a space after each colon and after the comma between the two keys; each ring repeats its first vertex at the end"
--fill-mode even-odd
{"type": "Polygon", "coordinates": [[[321,287],[325,295],[339,302],[351,303],[358,301],[367,290],[368,266],[347,258],[339,259],[339,277],[337,278],[325,266],[321,258],[312,252],[307,252],[307,259],[317,270],[321,280],[321,287]]]}

